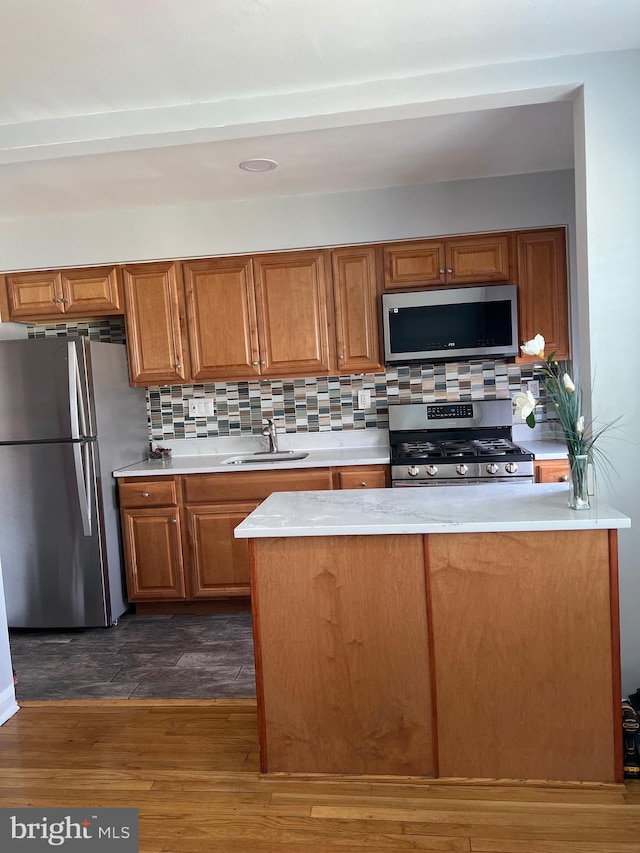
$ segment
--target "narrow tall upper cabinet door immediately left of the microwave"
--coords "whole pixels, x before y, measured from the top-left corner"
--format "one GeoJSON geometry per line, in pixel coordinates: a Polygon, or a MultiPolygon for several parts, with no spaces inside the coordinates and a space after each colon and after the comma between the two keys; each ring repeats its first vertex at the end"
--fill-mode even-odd
{"type": "Polygon", "coordinates": [[[383,370],[376,249],[333,249],[331,264],[338,372],[383,370]]]}

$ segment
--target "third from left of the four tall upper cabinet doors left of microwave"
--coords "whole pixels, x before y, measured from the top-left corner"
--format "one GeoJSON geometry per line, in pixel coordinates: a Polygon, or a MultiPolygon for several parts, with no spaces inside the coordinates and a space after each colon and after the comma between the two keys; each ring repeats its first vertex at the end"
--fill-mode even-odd
{"type": "Polygon", "coordinates": [[[325,252],[287,252],[253,259],[263,376],[331,372],[325,252]]]}

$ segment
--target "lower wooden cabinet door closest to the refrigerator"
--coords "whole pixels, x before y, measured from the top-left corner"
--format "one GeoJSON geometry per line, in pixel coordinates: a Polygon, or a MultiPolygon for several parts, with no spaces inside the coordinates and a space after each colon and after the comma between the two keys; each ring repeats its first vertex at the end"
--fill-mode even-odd
{"type": "Polygon", "coordinates": [[[122,535],[129,599],[185,598],[178,508],[123,509],[122,535]]]}

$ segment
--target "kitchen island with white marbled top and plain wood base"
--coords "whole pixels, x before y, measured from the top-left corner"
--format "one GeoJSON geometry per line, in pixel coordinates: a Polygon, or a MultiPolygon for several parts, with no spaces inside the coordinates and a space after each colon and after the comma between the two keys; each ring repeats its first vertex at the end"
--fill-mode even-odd
{"type": "Polygon", "coordinates": [[[251,540],[264,773],[622,778],[617,530],[566,485],[298,492],[251,540]]]}

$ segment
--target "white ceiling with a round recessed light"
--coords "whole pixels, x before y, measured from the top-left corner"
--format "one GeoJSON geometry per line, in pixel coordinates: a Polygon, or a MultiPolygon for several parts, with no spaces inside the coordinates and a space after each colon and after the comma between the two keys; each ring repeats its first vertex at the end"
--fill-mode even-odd
{"type": "Polygon", "coordinates": [[[425,75],[638,46],[638,0],[2,0],[0,218],[571,168],[570,92],[360,105],[425,75]],[[248,157],[280,166],[248,174],[248,157]]]}

